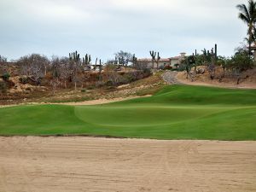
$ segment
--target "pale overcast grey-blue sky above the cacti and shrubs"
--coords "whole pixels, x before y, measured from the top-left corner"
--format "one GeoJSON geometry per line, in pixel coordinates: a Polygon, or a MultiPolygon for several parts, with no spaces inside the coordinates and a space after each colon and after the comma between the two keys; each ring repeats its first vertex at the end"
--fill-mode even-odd
{"type": "Polygon", "coordinates": [[[246,36],[236,4],[245,0],[1,0],[0,55],[67,56],[78,50],[107,61],[120,49],[148,57],[211,49],[232,55],[246,36]]]}

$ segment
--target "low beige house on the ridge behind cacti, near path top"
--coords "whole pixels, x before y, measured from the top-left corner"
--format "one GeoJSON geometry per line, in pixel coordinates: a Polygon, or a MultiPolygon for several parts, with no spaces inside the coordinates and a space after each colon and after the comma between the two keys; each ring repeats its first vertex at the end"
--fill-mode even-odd
{"type": "Polygon", "coordinates": [[[154,66],[151,58],[138,59],[137,64],[145,65],[147,68],[163,68],[166,66],[175,67],[176,64],[181,63],[185,55],[186,55],[185,53],[181,53],[178,56],[174,56],[170,58],[161,58],[158,64],[156,61],[154,61],[154,66]]]}

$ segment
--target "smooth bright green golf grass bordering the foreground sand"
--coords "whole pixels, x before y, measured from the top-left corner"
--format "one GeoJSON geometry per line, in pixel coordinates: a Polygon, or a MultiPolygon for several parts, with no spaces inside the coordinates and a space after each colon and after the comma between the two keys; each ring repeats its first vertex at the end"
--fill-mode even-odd
{"type": "Polygon", "coordinates": [[[155,96],[98,106],[0,108],[0,135],[256,140],[255,121],[256,90],[173,85],[155,96]]]}

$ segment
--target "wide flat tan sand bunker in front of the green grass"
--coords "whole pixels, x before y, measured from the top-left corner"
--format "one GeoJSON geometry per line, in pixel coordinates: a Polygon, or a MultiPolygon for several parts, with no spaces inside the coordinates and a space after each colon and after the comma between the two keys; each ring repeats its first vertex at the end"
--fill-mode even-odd
{"type": "Polygon", "coordinates": [[[256,142],[0,137],[0,191],[256,191],[256,142]]]}

